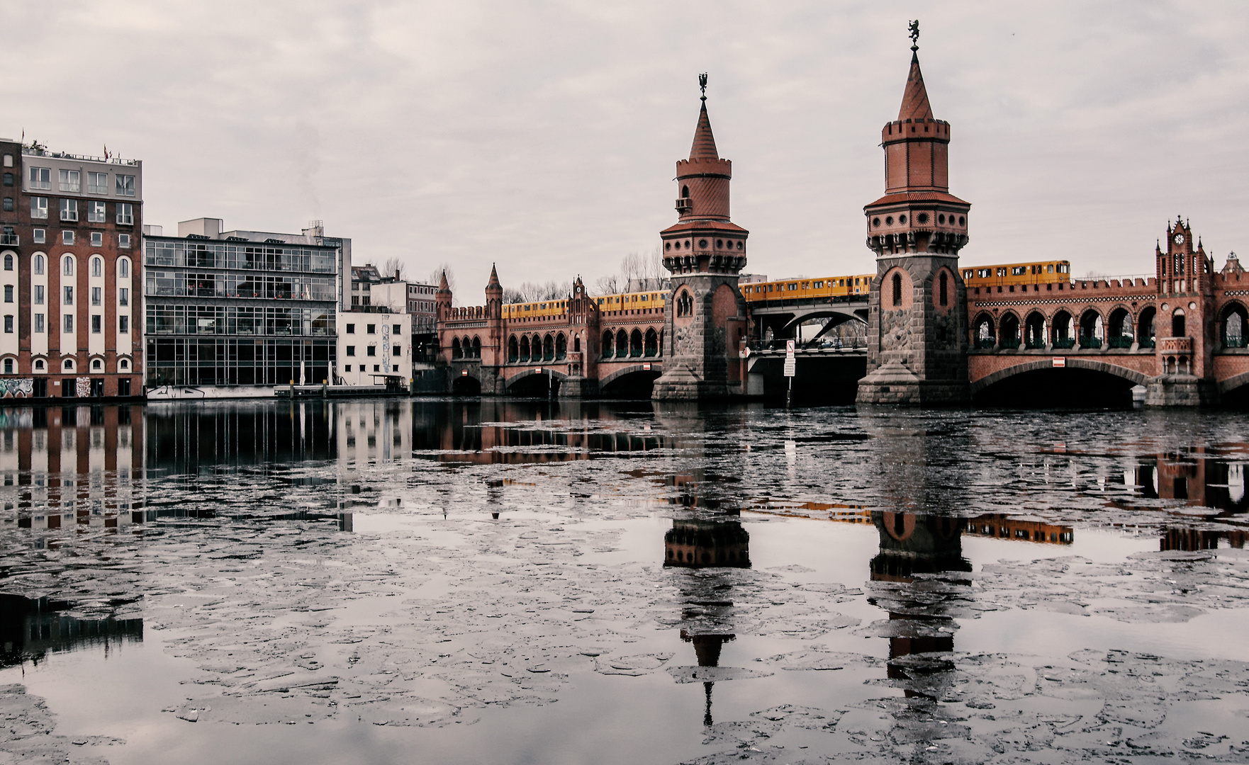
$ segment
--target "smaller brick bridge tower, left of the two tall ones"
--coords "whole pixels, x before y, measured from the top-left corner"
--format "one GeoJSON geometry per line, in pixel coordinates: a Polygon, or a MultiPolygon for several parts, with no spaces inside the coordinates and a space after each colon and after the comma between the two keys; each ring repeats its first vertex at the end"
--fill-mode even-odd
{"type": "Polygon", "coordinates": [[[749,232],[728,217],[733,163],[716,150],[707,116],[707,76],[689,158],[677,162],[678,220],[659,232],[663,266],[672,272],[664,307],[663,374],[652,398],[697,401],[742,392],[739,348],[746,301],[737,280],[749,232]]]}

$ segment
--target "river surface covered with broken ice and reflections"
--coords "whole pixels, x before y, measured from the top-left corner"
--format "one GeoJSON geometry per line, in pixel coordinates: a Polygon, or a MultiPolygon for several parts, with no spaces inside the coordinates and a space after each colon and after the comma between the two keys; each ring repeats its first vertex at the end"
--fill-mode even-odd
{"type": "Polygon", "coordinates": [[[1247,432],[2,409],[0,765],[1243,763],[1247,432]]]}

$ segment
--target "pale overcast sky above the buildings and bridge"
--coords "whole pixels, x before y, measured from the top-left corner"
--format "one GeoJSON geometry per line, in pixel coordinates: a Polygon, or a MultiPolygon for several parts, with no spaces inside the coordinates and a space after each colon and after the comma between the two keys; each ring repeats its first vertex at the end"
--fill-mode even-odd
{"type": "Polygon", "coordinates": [[[1243,1],[0,0],[0,135],[142,160],[166,232],[321,218],[471,303],[492,261],[592,282],[652,250],[707,71],[747,271],[869,272],[916,17],[964,263],[1152,272],[1178,213],[1219,267],[1249,255],[1243,1]]]}

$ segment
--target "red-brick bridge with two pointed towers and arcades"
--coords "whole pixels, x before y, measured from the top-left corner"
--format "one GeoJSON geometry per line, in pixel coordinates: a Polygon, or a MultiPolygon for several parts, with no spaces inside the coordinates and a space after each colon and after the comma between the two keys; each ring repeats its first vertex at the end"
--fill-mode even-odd
{"type": "MultiPolygon", "coordinates": [[[[653,396],[776,394],[782,358],[768,339],[822,321],[867,326],[862,348],[804,347],[801,386],[859,403],[1030,403],[1078,391],[1144,389],[1148,406],[1249,398],[1249,277],[1217,268],[1182,218],[1154,250],[1152,276],[1073,280],[1065,261],[963,268],[970,203],[949,193],[950,125],[933,110],[913,52],[898,119],[881,131],[884,196],[863,207],[877,271],[739,283],[749,232],[729,220],[732,163],[721,158],[706,96],[689,158],[677,162],[677,223],[659,232],[671,285],[506,306],[496,271],[486,301],[437,293],[448,392],[653,396]],[[1045,273],[989,283],[988,275],[1045,273]]],[[[817,336],[817,339],[819,337],[817,336]]]]}

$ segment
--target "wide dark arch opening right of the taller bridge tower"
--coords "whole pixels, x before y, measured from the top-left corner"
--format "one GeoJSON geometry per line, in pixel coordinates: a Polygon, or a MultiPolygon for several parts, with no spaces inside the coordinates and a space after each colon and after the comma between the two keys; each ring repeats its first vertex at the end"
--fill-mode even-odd
{"type": "Polygon", "coordinates": [[[1125,377],[1070,366],[1037,367],[982,388],[973,401],[978,406],[1013,409],[1132,407],[1132,388],[1137,383],[1125,377]]]}

